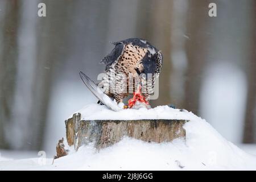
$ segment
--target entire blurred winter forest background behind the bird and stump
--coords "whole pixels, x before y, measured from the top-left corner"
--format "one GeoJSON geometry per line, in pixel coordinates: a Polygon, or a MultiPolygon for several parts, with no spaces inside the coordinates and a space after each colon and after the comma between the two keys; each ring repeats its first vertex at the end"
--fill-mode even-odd
{"type": "Polygon", "coordinates": [[[256,143],[255,20],[254,0],[1,0],[0,149],[53,155],[64,120],[97,102],[78,72],[96,80],[109,42],[127,38],[163,52],[153,106],[193,111],[231,142],[256,143]]]}

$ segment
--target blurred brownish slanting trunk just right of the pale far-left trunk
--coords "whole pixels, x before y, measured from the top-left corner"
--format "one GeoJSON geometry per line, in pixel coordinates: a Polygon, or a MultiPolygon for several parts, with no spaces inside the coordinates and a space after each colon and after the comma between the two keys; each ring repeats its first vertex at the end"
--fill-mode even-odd
{"type": "Polygon", "coordinates": [[[68,44],[68,28],[72,22],[70,13],[73,12],[72,7],[75,3],[66,1],[65,6],[60,6],[63,3],[60,0],[44,2],[47,5],[47,16],[38,18],[36,29],[38,59],[36,59],[34,94],[32,96],[32,105],[36,107],[32,109],[29,119],[30,126],[34,128],[28,135],[28,140],[32,143],[29,148],[33,150],[41,150],[44,144],[53,73],[67,56],[65,53],[68,52],[69,47],[63,45],[68,44]],[[65,51],[63,51],[63,47],[66,48],[65,51]],[[57,60],[60,62],[57,63],[57,60]]]}

